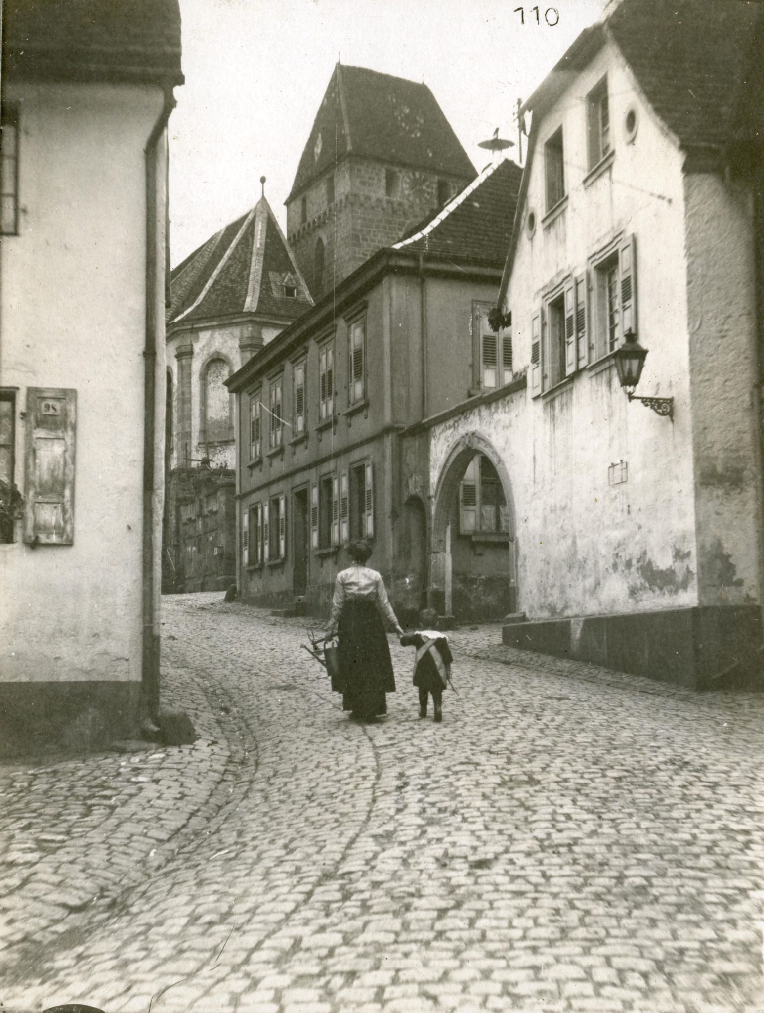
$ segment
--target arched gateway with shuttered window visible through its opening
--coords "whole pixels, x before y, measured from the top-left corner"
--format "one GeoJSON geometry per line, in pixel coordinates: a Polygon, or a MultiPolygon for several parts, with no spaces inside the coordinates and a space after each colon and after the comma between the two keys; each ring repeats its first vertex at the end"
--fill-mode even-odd
{"type": "Polygon", "coordinates": [[[451,447],[433,500],[428,604],[456,619],[517,611],[515,510],[502,458],[479,433],[451,447]]]}

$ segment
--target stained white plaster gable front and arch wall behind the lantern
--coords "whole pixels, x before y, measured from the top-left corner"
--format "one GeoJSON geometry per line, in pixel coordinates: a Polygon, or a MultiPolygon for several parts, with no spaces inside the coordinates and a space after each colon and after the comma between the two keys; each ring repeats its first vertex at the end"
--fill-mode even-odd
{"type": "Polygon", "coordinates": [[[481,434],[501,455],[516,508],[517,607],[532,618],[697,603],[681,165],[677,146],[606,46],[540,123],[506,300],[521,372],[544,291],[583,272],[619,233],[634,234],[640,340],[650,349],[638,393],[673,396],[673,424],[629,403],[605,361],[545,396],[532,397],[529,385],[431,431],[431,491],[462,435],[481,434]],[[586,96],[605,73],[614,160],[585,184],[586,96]],[[630,107],[639,116],[632,144],[623,129],[630,107]],[[544,225],[543,148],[561,124],[568,206],[544,225]],[[609,466],[621,461],[627,481],[609,484],[609,466]]]}

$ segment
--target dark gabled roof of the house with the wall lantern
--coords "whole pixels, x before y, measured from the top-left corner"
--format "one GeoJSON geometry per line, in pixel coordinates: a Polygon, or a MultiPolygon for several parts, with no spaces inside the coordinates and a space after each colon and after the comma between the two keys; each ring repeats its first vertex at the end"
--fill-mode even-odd
{"type": "Polygon", "coordinates": [[[525,108],[553,101],[609,36],[682,147],[761,140],[763,32],[757,0],[621,0],[581,32],[525,108]]]}

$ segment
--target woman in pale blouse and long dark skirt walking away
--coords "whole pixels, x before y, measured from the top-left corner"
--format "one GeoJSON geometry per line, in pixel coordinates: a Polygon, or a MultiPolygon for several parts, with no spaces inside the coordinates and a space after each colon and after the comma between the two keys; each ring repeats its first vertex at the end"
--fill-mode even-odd
{"type": "Polygon", "coordinates": [[[342,706],[368,719],[388,713],[385,694],[396,691],[380,613],[399,636],[403,629],[380,574],[364,565],[371,555],[368,542],[351,542],[347,551],[352,565],[337,574],[327,636],[336,631],[339,638],[342,706]]]}

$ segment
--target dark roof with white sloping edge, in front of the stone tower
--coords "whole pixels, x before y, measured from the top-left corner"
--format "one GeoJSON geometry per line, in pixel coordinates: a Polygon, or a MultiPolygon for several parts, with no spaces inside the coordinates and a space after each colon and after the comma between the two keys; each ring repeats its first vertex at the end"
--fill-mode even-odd
{"type": "Polygon", "coordinates": [[[503,264],[512,237],[522,169],[494,162],[434,217],[415,226],[394,249],[503,264]]]}

